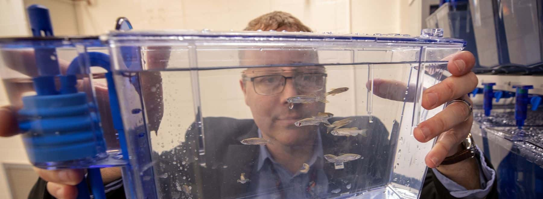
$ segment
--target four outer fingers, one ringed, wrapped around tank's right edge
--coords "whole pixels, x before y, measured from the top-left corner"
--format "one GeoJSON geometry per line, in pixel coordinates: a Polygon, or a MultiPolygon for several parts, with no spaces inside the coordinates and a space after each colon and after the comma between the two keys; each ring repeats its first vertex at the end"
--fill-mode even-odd
{"type": "MultiPolygon", "coordinates": [[[[469,100],[467,94],[477,86],[478,80],[471,68],[475,57],[470,52],[460,52],[450,57],[447,69],[452,74],[422,93],[422,107],[432,110],[448,101],[461,97],[469,100]]],[[[473,117],[463,102],[454,102],[443,111],[420,123],[413,131],[419,142],[428,142],[438,137],[434,147],[426,155],[425,162],[430,168],[437,167],[447,156],[454,155],[460,143],[468,137],[473,117]],[[467,118],[467,119],[466,119],[467,118]]]]}

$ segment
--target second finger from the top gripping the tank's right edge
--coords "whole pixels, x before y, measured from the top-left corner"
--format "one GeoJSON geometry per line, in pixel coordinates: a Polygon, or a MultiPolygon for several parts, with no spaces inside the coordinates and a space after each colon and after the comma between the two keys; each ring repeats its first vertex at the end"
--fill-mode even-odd
{"type": "Polygon", "coordinates": [[[422,93],[422,107],[432,110],[447,101],[458,99],[473,91],[478,81],[473,72],[462,76],[450,76],[422,93]]]}

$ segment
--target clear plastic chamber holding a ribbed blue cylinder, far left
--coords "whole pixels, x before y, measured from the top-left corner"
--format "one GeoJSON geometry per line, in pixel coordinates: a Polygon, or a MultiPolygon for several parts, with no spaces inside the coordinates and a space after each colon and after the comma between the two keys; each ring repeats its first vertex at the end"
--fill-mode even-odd
{"type": "Polygon", "coordinates": [[[35,166],[127,163],[111,120],[108,53],[96,36],[0,39],[0,77],[35,166]]]}

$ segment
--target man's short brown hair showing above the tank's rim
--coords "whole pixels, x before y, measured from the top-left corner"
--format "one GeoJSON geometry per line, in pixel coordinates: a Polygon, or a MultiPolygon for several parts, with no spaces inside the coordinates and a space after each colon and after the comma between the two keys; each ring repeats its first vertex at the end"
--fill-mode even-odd
{"type": "Polygon", "coordinates": [[[298,18],[287,12],[273,11],[251,20],[243,30],[277,30],[280,27],[288,27],[294,31],[311,32],[298,18]]]}

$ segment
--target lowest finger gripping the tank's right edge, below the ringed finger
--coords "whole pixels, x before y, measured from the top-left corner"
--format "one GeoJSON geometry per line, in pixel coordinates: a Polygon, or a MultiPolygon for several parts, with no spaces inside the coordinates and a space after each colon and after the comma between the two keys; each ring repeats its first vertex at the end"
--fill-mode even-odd
{"type": "Polygon", "coordinates": [[[457,152],[459,144],[464,140],[471,130],[473,117],[455,126],[453,129],[441,133],[432,150],[425,158],[426,165],[435,168],[443,162],[445,157],[452,156],[457,152]]]}

